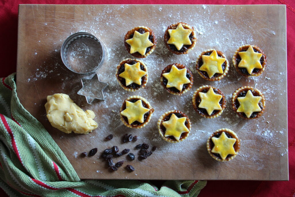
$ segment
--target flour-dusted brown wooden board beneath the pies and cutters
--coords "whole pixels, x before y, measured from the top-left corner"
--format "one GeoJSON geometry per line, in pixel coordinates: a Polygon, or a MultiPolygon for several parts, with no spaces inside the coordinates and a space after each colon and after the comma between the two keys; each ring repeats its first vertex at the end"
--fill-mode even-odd
{"type": "Polygon", "coordinates": [[[20,5],[18,27],[17,93],[20,102],[63,150],[81,179],[173,179],[173,180],[288,180],[287,141],[287,71],[286,7],[284,5],[20,5]],[[176,56],[164,46],[168,25],[186,22],[194,26],[197,44],[187,55],[176,56]],[[148,26],[155,32],[155,51],[142,59],[149,72],[145,89],[123,90],[115,79],[116,66],[131,58],[124,48],[125,33],[136,26],[148,26]],[[77,95],[81,76],[67,70],[60,59],[63,41],[75,32],[89,32],[99,37],[107,48],[104,65],[97,71],[100,80],[108,82],[106,101],[88,105],[77,95]],[[237,74],[231,63],[235,50],[243,44],[258,45],[267,55],[267,68],[258,77],[246,79],[237,74]],[[207,82],[194,69],[197,56],[204,50],[223,51],[230,62],[229,74],[219,82],[207,82]],[[186,65],[194,73],[192,89],[182,96],[171,95],[160,85],[162,69],[171,63],[186,65]],[[201,118],[191,104],[193,92],[202,85],[213,85],[226,95],[227,108],[215,119],[201,118]],[[249,85],[266,97],[262,117],[243,120],[230,108],[230,97],[238,87],[249,85]],[[88,135],[65,134],[50,126],[44,104],[46,96],[65,93],[84,110],[96,114],[99,127],[88,135]],[[119,109],[131,95],[145,97],[155,109],[150,123],[142,129],[125,127],[119,109]],[[157,130],[158,118],[168,110],[185,112],[192,122],[185,141],[171,144],[163,141],[157,130]],[[207,138],[219,128],[235,131],[241,139],[238,156],[230,162],[217,162],[206,149],[207,138]],[[114,135],[111,141],[104,138],[114,135]],[[122,144],[125,133],[139,136],[137,142],[122,144]],[[129,161],[111,172],[99,153],[113,145],[134,149],[148,143],[158,149],[142,161],[129,161]],[[97,147],[94,157],[81,157],[97,147]],[[127,164],[135,167],[128,172],[127,164]]]}

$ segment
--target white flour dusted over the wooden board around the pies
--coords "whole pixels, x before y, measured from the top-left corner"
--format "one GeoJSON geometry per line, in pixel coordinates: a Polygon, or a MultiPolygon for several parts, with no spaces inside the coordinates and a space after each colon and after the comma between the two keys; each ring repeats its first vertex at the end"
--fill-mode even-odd
{"type": "MultiPolygon", "coordinates": [[[[266,41],[272,42],[271,38],[277,36],[275,31],[269,26],[263,26],[258,32],[252,32],[253,27],[259,25],[259,19],[250,19],[251,17],[225,17],[228,9],[226,10],[224,6],[220,6],[219,12],[212,12],[210,5],[202,5],[201,10],[199,10],[200,13],[195,12],[194,15],[189,15],[177,9],[171,14],[171,12],[167,12],[161,6],[155,6],[155,8],[156,9],[153,10],[154,13],[162,12],[162,14],[164,13],[165,15],[164,17],[157,18],[157,14],[155,14],[154,16],[158,22],[151,23],[150,19],[145,19],[144,23],[139,24],[135,21],[134,23],[128,22],[128,25],[126,25],[127,23],[124,20],[124,17],[119,17],[118,13],[121,13],[123,16],[124,14],[129,13],[130,17],[137,17],[135,13],[130,12],[128,5],[106,6],[100,13],[95,15],[89,14],[87,17],[91,18],[88,20],[83,19],[85,16],[81,16],[81,20],[76,19],[75,23],[68,24],[71,25],[71,31],[60,35],[60,42],[57,42],[57,40],[54,41],[56,43],[54,44],[53,51],[56,51],[60,49],[61,41],[67,38],[70,34],[75,32],[89,32],[99,37],[106,45],[108,55],[105,58],[103,66],[97,71],[99,79],[102,82],[109,83],[109,86],[104,91],[106,101],[94,102],[91,106],[85,106],[85,108],[90,108],[96,113],[97,116],[94,120],[99,124],[99,127],[91,133],[93,136],[87,138],[87,140],[90,141],[87,142],[89,149],[92,148],[92,146],[96,146],[98,140],[101,141],[101,136],[107,136],[110,133],[113,133],[114,137],[121,138],[124,133],[132,133],[140,137],[138,140],[139,143],[145,142],[151,146],[158,147],[151,157],[172,160],[175,157],[181,157],[181,155],[186,154],[187,152],[195,152],[196,154],[201,155],[199,156],[201,158],[212,159],[208,157],[209,154],[206,149],[206,142],[209,135],[219,128],[229,128],[235,131],[237,136],[241,139],[240,153],[234,159],[237,164],[244,165],[243,163],[247,160],[248,163],[250,161],[251,166],[254,169],[262,170],[265,166],[261,161],[267,159],[267,155],[285,155],[287,147],[285,147],[279,139],[286,138],[286,130],[280,125],[277,126],[279,128],[278,130],[272,129],[273,125],[277,123],[270,120],[274,120],[274,116],[278,116],[278,108],[268,108],[271,103],[277,102],[279,94],[283,93],[280,84],[278,86],[271,84],[278,84],[278,82],[282,81],[286,77],[285,71],[280,72],[278,75],[278,66],[272,61],[273,59],[271,59],[271,57],[267,57],[267,67],[262,75],[245,78],[237,74],[231,61],[235,50],[244,44],[257,45],[267,55],[268,51],[272,49],[266,48],[264,43],[258,41],[258,37],[267,37],[266,41]],[[103,13],[108,14],[106,15],[103,13]],[[193,51],[186,55],[173,55],[165,47],[163,41],[163,35],[167,26],[177,22],[188,23],[193,26],[196,31],[196,37],[198,39],[196,46],[193,51]],[[245,25],[241,29],[236,30],[236,23],[241,22],[245,25]],[[133,27],[142,25],[150,27],[155,32],[157,45],[155,51],[150,56],[141,59],[148,67],[149,79],[147,87],[136,92],[127,92],[122,89],[116,81],[116,66],[125,58],[133,58],[133,56],[127,53],[124,47],[124,35],[133,27]],[[113,35],[111,35],[112,38],[109,38],[109,28],[111,28],[113,32],[113,35]],[[218,82],[209,82],[202,79],[195,69],[196,58],[202,51],[210,48],[222,51],[230,63],[229,73],[218,82]],[[181,96],[169,94],[160,84],[160,74],[162,70],[165,66],[172,63],[184,64],[194,74],[194,85],[192,89],[181,96]],[[217,118],[202,118],[197,115],[192,108],[192,95],[194,91],[202,85],[212,85],[217,87],[226,97],[227,106],[222,115],[217,118]],[[266,97],[266,111],[258,119],[244,120],[238,117],[231,109],[232,92],[244,85],[258,88],[266,97]],[[120,121],[119,109],[124,99],[131,95],[144,97],[155,109],[150,123],[144,128],[132,130],[125,127],[120,121]],[[158,118],[160,118],[160,116],[166,111],[174,109],[186,113],[192,122],[192,129],[189,137],[185,141],[176,144],[164,141],[160,137],[157,128],[158,118]],[[283,138],[281,136],[283,136],[283,138]],[[260,151],[261,147],[270,148],[271,146],[282,147],[282,152],[260,151]]],[[[240,7],[232,7],[232,12],[235,12],[235,9],[240,9],[240,7]]],[[[92,10],[89,12],[91,13],[92,10]]],[[[46,24],[47,27],[48,25],[49,24],[46,24]]],[[[87,50],[87,48],[85,48],[85,50],[87,50]]],[[[39,53],[40,52],[38,51],[34,51],[33,55],[38,56],[39,53]]],[[[75,52],[72,52],[71,57],[77,55],[74,53],[75,52]]],[[[76,80],[75,83],[79,83],[78,79],[63,75],[62,72],[64,72],[64,70],[61,69],[61,67],[64,67],[64,65],[61,64],[58,58],[56,62],[55,65],[48,65],[46,64],[46,61],[44,61],[44,63],[37,65],[36,73],[27,79],[27,81],[32,82],[42,80],[46,77],[56,77],[60,71],[59,77],[61,80],[76,80]],[[42,71],[38,70],[40,67],[43,67],[42,71]],[[56,75],[47,76],[50,71],[53,71],[56,75]]],[[[90,79],[91,76],[84,77],[90,79]]],[[[60,92],[67,89],[67,86],[61,85],[60,92]]],[[[78,87],[73,89],[73,95],[77,92],[76,90],[78,90],[78,87]]],[[[85,103],[83,102],[83,97],[76,97],[76,99],[78,99],[75,100],[76,103],[85,103]]],[[[65,139],[65,137],[63,139],[65,139]]],[[[133,143],[129,146],[135,146],[139,143],[133,143]]],[[[265,150],[265,148],[263,149],[265,150]]],[[[74,156],[77,157],[77,154],[78,153],[75,152],[74,156]]],[[[187,162],[192,163],[196,162],[196,159],[198,158],[186,159],[188,160],[187,162]]],[[[142,163],[147,163],[149,159],[146,160],[147,161],[142,161],[142,163]]],[[[214,162],[213,159],[212,162],[214,162]]],[[[98,170],[96,172],[102,173],[102,171],[103,170],[98,170]]]]}

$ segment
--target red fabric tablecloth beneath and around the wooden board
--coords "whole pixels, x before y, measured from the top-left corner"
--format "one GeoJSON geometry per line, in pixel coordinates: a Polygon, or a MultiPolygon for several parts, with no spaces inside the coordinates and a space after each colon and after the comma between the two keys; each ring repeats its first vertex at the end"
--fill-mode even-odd
{"type": "MultiPolygon", "coordinates": [[[[118,0],[0,0],[0,77],[16,71],[18,4],[121,4],[118,0]],[[5,39],[3,39],[5,38],[5,39]]],[[[288,51],[288,131],[289,181],[208,181],[201,191],[204,196],[295,196],[295,92],[292,91],[295,62],[295,1],[294,0],[127,0],[124,4],[286,4],[288,51]],[[227,191],[230,189],[231,193],[227,191]],[[222,195],[224,194],[224,195],[222,195]]],[[[275,47],[275,46],[274,46],[275,47]]],[[[0,191],[4,195],[3,191],[0,191]]]]}

